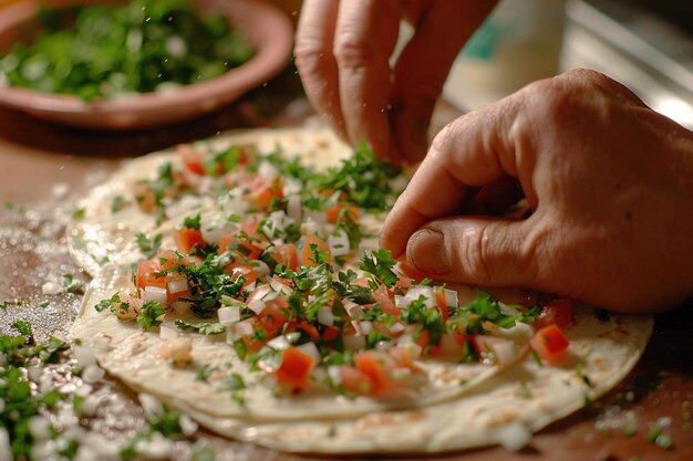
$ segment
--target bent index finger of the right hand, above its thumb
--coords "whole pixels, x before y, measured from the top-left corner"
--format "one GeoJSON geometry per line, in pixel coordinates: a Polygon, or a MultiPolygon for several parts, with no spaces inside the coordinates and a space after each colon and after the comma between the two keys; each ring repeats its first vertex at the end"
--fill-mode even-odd
{"type": "MultiPolygon", "coordinates": [[[[381,245],[402,254],[408,238],[431,220],[457,214],[470,187],[505,176],[517,177],[509,133],[517,112],[514,99],[457,118],[433,140],[428,155],[387,216],[381,245]]],[[[526,167],[531,171],[531,166],[526,167]]],[[[519,178],[523,180],[523,178],[519,178]]],[[[531,181],[524,178],[531,199],[531,181]]]]}

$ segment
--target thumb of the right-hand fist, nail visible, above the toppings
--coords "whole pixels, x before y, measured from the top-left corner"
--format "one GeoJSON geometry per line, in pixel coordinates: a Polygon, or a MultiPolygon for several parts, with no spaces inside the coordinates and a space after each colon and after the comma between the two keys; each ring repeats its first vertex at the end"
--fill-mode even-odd
{"type": "Polygon", "coordinates": [[[449,218],[426,223],[406,245],[410,265],[434,279],[484,286],[526,286],[535,261],[523,221],[449,218]]]}

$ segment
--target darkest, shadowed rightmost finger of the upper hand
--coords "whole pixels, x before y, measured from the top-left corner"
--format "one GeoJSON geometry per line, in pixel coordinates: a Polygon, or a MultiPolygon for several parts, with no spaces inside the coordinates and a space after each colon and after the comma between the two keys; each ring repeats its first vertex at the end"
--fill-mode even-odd
{"type": "Polygon", "coordinates": [[[400,54],[393,78],[391,124],[400,155],[426,154],[427,128],[451,66],[496,2],[438,1],[422,12],[416,33],[400,54]]]}

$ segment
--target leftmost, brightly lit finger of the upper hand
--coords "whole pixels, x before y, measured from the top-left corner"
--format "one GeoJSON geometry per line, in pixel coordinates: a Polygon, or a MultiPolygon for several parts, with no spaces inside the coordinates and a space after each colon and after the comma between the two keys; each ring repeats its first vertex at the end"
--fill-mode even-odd
{"type": "Polygon", "coordinates": [[[296,65],[311,104],[344,139],[337,60],[332,54],[339,0],[304,0],[296,35],[296,65]]]}

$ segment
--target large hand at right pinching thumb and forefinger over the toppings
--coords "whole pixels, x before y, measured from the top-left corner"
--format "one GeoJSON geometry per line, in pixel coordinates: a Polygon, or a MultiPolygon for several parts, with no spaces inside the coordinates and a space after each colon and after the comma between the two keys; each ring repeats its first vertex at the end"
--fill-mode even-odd
{"type": "Polygon", "coordinates": [[[693,293],[693,133],[596,72],[534,83],[435,137],[381,244],[436,280],[672,306],[693,293]],[[470,213],[513,181],[531,216],[470,213]]]}

